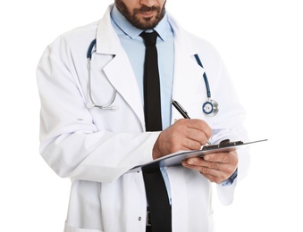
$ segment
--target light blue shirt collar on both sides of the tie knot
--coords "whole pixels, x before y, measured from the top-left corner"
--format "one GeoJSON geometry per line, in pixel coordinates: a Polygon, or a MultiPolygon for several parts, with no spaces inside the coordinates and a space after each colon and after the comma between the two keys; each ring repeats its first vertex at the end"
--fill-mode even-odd
{"type": "MultiPolygon", "coordinates": [[[[114,23],[130,38],[139,37],[139,34],[142,33],[142,29],[137,29],[130,24],[129,21],[125,19],[121,12],[118,11],[116,6],[114,5],[113,11],[111,12],[111,17],[114,23]]],[[[156,32],[158,33],[159,37],[165,41],[167,31],[172,30],[171,25],[168,22],[167,14],[165,13],[164,18],[159,21],[158,25],[156,25],[156,32]]]]}

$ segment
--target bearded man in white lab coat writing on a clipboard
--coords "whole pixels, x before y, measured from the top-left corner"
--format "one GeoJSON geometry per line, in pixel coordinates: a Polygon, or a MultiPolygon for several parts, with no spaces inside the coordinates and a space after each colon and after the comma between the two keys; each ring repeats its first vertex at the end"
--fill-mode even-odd
{"type": "MultiPolygon", "coordinates": [[[[165,11],[165,2],[115,0],[101,21],[55,39],[38,63],[40,153],[60,177],[72,179],[65,232],[163,231],[153,227],[144,173],[129,170],[169,153],[200,149],[207,141],[248,139],[244,111],[219,54],[181,29],[165,11]],[[159,131],[146,128],[143,31],[158,35],[159,131]],[[88,71],[88,46],[94,39],[88,71]],[[220,107],[214,117],[202,111],[209,100],[205,72],[220,107]],[[105,108],[94,105],[105,106],[112,98],[105,108]],[[172,108],[172,99],[192,120],[172,108]]],[[[166,231],[213,231],[212,186],[229,204],[247,171],[245,149],[161,169],[171,207],[166,231]]]]}

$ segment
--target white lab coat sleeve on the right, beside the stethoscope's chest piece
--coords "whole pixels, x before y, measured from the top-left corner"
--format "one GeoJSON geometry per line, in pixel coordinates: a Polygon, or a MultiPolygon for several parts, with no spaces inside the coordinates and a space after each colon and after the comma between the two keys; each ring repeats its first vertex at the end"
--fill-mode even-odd
{"type": "MultiPolygon", "coordinates": [[[[243,127],[246,111],[240,104],[222,57],[212,46],[209,46],[209,49],[213,52],[207,51],[205,54],[213,54],[213,56],[205,58],[204,65],[212,87],[212,98],[219,103],[219,112],[211,119],[212,142],[217,144],[224,139],[248,142],[248,134],[246,128],[243,127]]],[[[250,160],[248,148],[240,148],[237,153],[239,158],[237,178],[231,186],[216,185],[217,195],[221,203],[225,205],[232,203],[235,187],[248,173],[250,160]]]]}

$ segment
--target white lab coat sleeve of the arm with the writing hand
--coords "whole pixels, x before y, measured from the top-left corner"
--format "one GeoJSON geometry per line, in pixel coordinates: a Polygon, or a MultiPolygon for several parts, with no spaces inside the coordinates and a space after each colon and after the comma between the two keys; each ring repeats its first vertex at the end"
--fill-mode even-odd
{"type": "MultiPolygon", "coordinates": [[[[69,46],[59,37],[38,63],[40,153],[63,178],[111,182],[152,160],[158,133],[142,133],[136,127],[138,119],[132,118],[127,121],[133,124],[132,131],[97,129],[81,94],[75,62],[69,46]]],[[[115,123],[125,125],[124,120],[115,123]]]]}

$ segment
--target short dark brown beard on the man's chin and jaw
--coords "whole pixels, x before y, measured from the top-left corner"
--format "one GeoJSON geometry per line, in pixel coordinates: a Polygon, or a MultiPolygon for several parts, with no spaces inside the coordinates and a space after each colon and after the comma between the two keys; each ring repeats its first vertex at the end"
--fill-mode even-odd
{"type": "Polygon", "coordinates": [[[134,9],[133,12],[130,12],[130,10],[127,8],[126,4],[124,4],[122,0],[115,0],[114,3],[119,12],[121,12],[122,15],[126,18],[126,20],[138,29],[154,29],[165,15],[166,1],[164,2],[162,9],[159,6],[148,7],[146,5],[143,5],[138,9],[134,9]],[[156,12],[156,16],[139,17],[139,13],[142,12],[156,12]]]}

